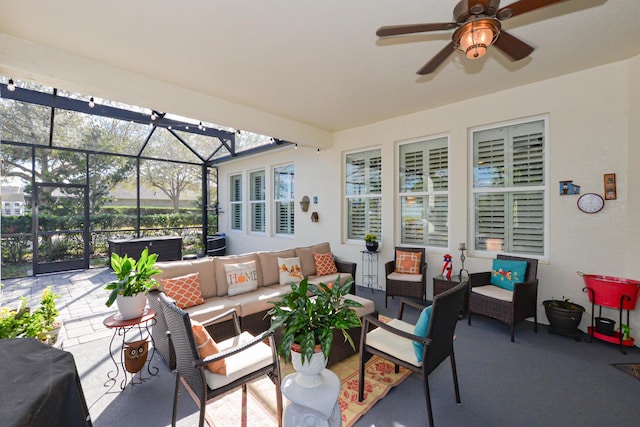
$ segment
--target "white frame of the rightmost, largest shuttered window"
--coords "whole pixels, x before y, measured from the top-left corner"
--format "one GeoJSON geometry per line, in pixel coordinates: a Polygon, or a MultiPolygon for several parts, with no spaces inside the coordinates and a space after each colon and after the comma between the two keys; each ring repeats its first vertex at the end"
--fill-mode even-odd
{"type": "MultiPolygon", "coordinates": [[[[512,141],[507,141],[507,143],[512,144],[512,141]]],[[[476,255],[480,257],[494,257],[496,253],[513,255],[513,256],[523,256],[527,258],[534,258],[538,260],[548,260],[549,259],[549,197],[550,197],[550,182],[549,182],[549,115],[542,114],[530,117],[524,117],[520,119],[508,120],[504,122],[493,123],[491,125],[483,125],[477,126],[473,128],[469,128],[468,133],[468,147],[469,147],[469,161],[468,161],[468,188],[469,188],[469,241],[470,244],[467,245],[469,248],[469,255],[476,255]],[[517,126],[530,125],[535,122],[541,121],[543,123],[542,129],[542,138],[543,138],[543,173],[542,179],[543,183],[541,185],[509,185],[509,186],[496,186],[496,187],[478,187],[476,188],[474,185],[474,168],[475,168],[475,142],[474,142],[474,134],[478,132],[483,132],[487,130],[498,130],[502,128],[514,128],[517,126]],[[478,249],[476,246],[476,196],[478,194],[505,194],[507,197],[512,197],[514,194],[523,194],[523,193],[542,193],[542,203],[544,204],[542,208],[542,254],[536,253],[527,253],[527,252],[514,252],[512,250],[508,250],[511,246],[507,245],[505,247],[504,243],[502,248],[497,251],[490,250],[482,250],[478,249]]],[[[507,151],[511,151],[509,148],[507,151]]],[[[505,174],[511,172],[513,166],[513,162],[511,161],[509,164],[505,163],[505,174]]],[[[505,178],[505,181],[509,178],[505,178]]],[[[511,183],[511,182],[510,182],[511,183]]],[[[512,184],[512,183],[511,183],[512,184]]],[[[509,214],[508,209],[505,209],[505,214],[509,215],[505,220],[505,227],[509,226],[510,230],[513,230],[513,226],[510,225],[512,222],[512,216],[509,214]]],[[[510,237],[512,238],[512,236],[510,237]]]]}

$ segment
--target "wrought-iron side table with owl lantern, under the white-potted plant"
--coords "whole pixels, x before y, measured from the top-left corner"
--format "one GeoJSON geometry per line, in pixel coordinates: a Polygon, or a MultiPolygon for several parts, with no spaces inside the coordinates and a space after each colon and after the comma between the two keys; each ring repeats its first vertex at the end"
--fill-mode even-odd
{"type": "MultiPolygon", "coordinates": [[[[125,349],[126,343],[128,342],[127,333],[131,332],[132,330],[133,330],[133,333],[130,334],[130,336],[132,335],[139,336],[140,337],[139,340],[141,341],[146,340],[151,343],[153,350],[148,349],[147,359],[144,362],[144,365],[147,366],[147,372],[149,373],[149,375],[158,374],[158,371],[159,371],[158,367],[151,366],[151,360],[153,359],[153,356],[155,356],[156,354],[156,346],[153,341],[153,335],[151,335],[151,330],[149,329],[149,327],[155,325],[156,322],[157,322],[156,312],[154,310],[145,310],[142,316],[136,317],[135,319],[123,320],[120,318],[120,313],[113,314],[107,317],[106,319],[104,319],[104,321],[102,322],[104,326],[106,326],[109,329],[113,329],[113,336],[111,337],[111,341],[109,342],[109,356],[111,357],[111,360],[113,361],[113,365],[115,366],[114,370],[111,370],[107,373],[107,377],[109,379],[104,383],[105,387],[107,387],[109,383],[115,384],[117,382],[117,378],[120,375],[120,370],[122,370],[122,374],[124,376],[124,378],[120,381],[120,389],[124,390],[127,386],[127,371],[125,369],[124,349],[125,349]],[[116,336],[122,337],[122,343],[119,346],[120,363],[116,361],[116,357],[113,355],[113,342],[115,341],[116,336]],[[151,355],[149,355],[149,353],[151,353],[151,355]]],[[[139,371],[140,381],[138,383],[135,382],[135,373],[132,374],[131,387],[133,387],[135,384],[140,384],[142,383],[142,381],[144,381],[145,378],[142,377],[142,372],[144,371],[144,365],[139,371]]],[[[113,384],[111,386],[113,386],[113,384]]]]}

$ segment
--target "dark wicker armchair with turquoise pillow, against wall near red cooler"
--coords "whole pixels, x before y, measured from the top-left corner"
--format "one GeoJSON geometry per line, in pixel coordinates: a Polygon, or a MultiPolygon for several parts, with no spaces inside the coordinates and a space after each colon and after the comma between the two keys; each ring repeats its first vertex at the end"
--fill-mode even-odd
{"type": "MultiPolygon", "coordinates": [[[[469,317],[482,314],[500,320],[511,327],[511,341],[514,340],[515,327],[521,321],[533,317],[533,330],[538,332],[538,260],[509,255],[498,255],[497,259],[526,261],[527,272],[523,283],[515,283],[513,292],[500,290],[497,295],[489,292],[479,293],[478,288],[489,289],[491,272],[471,273],[469,275],[469,317]],[[498,297],[496,297],[498,296],[498,297]]],[[[495,288],[495,287],[493,287],[495,288]]]]}

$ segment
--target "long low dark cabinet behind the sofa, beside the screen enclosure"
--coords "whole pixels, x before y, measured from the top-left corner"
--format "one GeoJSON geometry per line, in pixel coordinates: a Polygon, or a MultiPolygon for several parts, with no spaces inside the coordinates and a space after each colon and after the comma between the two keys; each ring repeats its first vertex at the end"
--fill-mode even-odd
{"type": "Polygon", "coordinates": [[[174,236],[109,240],[109,259],[115,253],[120,256],[126,254],[137,260],[144,248],[149,248],[149,253],[158,254],[158,261],[182,259],[182,237],[174,236]]]}

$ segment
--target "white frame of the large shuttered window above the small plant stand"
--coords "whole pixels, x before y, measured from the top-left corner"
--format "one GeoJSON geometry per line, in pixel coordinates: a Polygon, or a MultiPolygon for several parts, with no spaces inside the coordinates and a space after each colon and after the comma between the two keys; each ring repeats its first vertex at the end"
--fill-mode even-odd
{"type": "Polygon", "coordinates": [[[383,204],[383,199],[382,199],[382,178],[383,178],[383,174],[382,174],[382,163],[383,163],[383,157],[382,157],[382,147],[380,146],[376,146],[376,147],[368,147],[365,149],[358,149],[358,150],[351,150],[348,152],[345,152],[343,154],[342,157],[342,166],[343,166],[343,173],[342,173],[342,180],[343,180],[343,201],[344,201],[344,236],[345,236],[345,241],[348,243],[359,243],[361,244],[362,242],[364,242],[364,237],[367,234],[375,234],[376,236],[378,236],[378,242],[382,242],[382,230],[383,230],[383,225],[382,225],[382,204],[383,204]],[[379,187],[379,191],[378,192],[374,192],[371,191],[371,187],[372,187],[372,176],[373,173],[371,171],[371,164],[370,161],[372,160],[372,158],[375,157],[375,153],[379,153],[379,158],[380,158],[380,167],[378,170],[378,175],[379,175],[379,179],[378,179],[378,187],[379,187]],[[362,193],[354,193],[354,194],[349,194],[349,184],[348,184],[348,180],[347,180],[347,173],[348,173],[348,165],[347,165],[347,160],[349,158],[349,156],[353,156],[353,155],[362,155],[363,156],[363,160],[365,162],[364,165],[364,169],[365,172],[363,174],[364,176],[364,187],[365,187],[365,191],[362,193]],[[371,220],[372,217],[365,213],[365,219],[364,222],[366,223],[365,225],[365,230],[363,230],[362,232],[362,238],[356,238],[357,236],[353,236],[351,235],[351,230],[349,225],[352,223],[351,220],[351,212],[352,210],[350,209],[350,201],[352,199],[364,199],[366,202],[366,207],[365,208],[370,208],[371,206],[371,200],[377,200],[378,203],[378,213],[379,213],[379,224],[377,224],[377,232],[375,230],[375,227],[372,227],[371,225],[371,220]]]}

